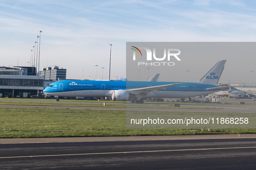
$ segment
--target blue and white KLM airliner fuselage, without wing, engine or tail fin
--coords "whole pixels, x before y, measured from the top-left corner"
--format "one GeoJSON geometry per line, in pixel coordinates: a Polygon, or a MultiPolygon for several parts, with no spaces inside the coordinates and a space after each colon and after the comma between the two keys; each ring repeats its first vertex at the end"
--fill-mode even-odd
{"type": "MultiPolygon", "coordinates": [[[[126,82],[126,81],[94,81],[64,80],[54,82],[44,89],[45,94],[65,97],[111,97],[112,91],[146,88],[182,82],[126,82]]],[[[172,87],[151,91],[144,98],[189,98],[214,93],[219,90],[206,90],[218,86],[185,83],[172,87]]]]}

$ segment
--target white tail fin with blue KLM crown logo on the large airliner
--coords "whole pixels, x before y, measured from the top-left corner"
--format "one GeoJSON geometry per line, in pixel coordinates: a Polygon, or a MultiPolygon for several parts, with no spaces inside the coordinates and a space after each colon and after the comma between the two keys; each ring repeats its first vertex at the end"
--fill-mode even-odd
{"type": "Polygon", "coordinates": [[[217,85],[226,61],[227,60],[219,61],[198,83],[217,85]]]}

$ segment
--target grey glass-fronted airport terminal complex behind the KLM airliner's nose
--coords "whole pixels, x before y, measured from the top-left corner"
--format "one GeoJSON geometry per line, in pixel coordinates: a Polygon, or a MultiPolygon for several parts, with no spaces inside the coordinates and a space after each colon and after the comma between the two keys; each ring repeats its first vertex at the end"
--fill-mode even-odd
{"type": "Polygon", "coordinates": [[[66,69],[59,71],[53,68],[49,76],[40,73],[36,76],[35,67],[0,67],[0,97],[22,98],[24,93],[28,97],[38,97],[47,85],[58,81],[58,78],[66,79],[66,69]]]}

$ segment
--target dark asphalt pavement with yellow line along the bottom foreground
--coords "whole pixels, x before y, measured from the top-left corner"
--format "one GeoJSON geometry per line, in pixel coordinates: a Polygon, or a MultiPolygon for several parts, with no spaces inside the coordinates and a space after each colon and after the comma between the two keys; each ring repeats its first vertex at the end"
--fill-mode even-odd
{"type": "Polygon", "coordinates": [[[255,138],[0,144],[1,169],[250,170],[255,160],[255,138]]]}

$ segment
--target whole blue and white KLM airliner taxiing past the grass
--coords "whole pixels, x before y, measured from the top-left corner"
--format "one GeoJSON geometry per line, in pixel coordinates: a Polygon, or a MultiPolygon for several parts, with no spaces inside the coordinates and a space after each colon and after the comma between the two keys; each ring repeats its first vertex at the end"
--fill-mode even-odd
{"type": "Polygon", "coordinates": [[[217,85],[226,60],[219,61],[204,77],[192,82],[132,82],[64,80],[50,84],[43,92],[65,97],[112,97],[113,101],[143,103],[146,98],[191,98],[221,91],[229,86],[217,85]]]}

